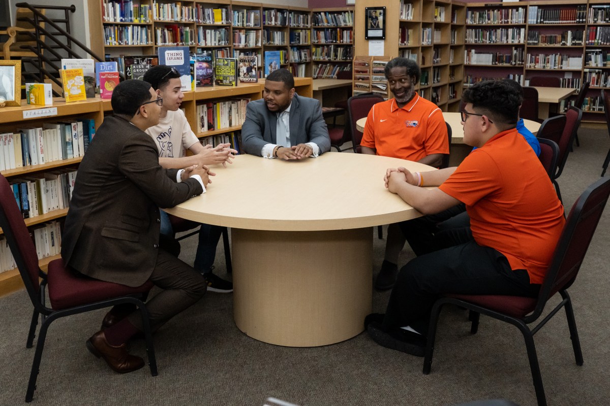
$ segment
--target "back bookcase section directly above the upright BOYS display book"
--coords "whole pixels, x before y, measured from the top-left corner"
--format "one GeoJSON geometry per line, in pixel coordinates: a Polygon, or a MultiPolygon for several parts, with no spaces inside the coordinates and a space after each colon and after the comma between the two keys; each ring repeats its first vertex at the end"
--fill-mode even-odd
{"type": "Polygon", "coordinates": [[[261,77],[262,66],[262,4],[232,2],[233,57],[240,55],[257,57],[257,72],[261,77]]]}

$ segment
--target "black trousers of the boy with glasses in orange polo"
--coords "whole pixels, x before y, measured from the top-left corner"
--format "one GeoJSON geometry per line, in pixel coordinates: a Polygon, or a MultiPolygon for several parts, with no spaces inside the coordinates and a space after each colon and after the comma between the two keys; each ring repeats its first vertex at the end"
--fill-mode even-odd
{"type": "Polygon", "coordinates": [[[443,293],[538,295],[540,285],[529,283],[527,271],[512,270],[508,259],[499,251],[478,245],[469,225],[439,228],[439,219],[454,217],[450,214],[459,207],[452,209],[401,223],[403,231],[409,228],[405,234],[407,240],[412,238],[409,243],[418,257],[404,265],[398,274],[387,306],[384,329],[411,326],[425,333],[432,306],[443,293]],[[422,236],[421,241],[417,241],[416,231],[422,236]]]}

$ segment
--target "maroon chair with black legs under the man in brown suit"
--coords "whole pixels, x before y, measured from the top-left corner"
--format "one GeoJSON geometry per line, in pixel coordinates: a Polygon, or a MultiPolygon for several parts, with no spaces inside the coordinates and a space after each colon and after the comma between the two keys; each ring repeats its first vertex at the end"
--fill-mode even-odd
{"type": "Polygon", "coordinates": [[[151,282],[146,282],[139,287],[129,287],[98,281],[87,276],[79,276],[79,274],[68,270],[62,259],[49,262],[48,273],[43,272],[38,267],[36,248],[23,222],[13,191],[2,175],[0,175],[0,227],[2,227],[2,231],[9,242],[10,251],[19,268],[23,284],[26,285],[27,294],[30,296],[32,305],[34,305],[34,313],[27,335],[27,348],[32,348],[34,343],[39,316],[41,316],[42,321],[38,332],[30,379],[27,383],[26,402],[31,402],[34,397],[46,332],[51,322],[61,317],[102,309],[115,304],[132,303],[140,310],[151,375],[157,375],[157,362],[152,346],[148,311],[145,304],[140,300],[152,289],[151,282]],[[46,287],[48,287],[50,307],[45,304],[46,287]]]}

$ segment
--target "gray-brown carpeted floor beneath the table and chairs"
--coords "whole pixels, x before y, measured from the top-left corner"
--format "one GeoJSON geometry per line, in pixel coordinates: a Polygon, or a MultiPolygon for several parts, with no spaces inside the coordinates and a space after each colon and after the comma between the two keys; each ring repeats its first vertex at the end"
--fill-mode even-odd
{"type": "MultiPolygon", "coordinates": [[[[559,179],[564,203],[599,178],[610,141],[605,129],[583,128],[581,147],[571,153],[559,179]]],[[[584,365],[576,366],[564,313],[536,335],[549,405],[603,405],[610,389],[610,278],[606,250],[610,208],[597,229],[586,261],[570,289],[581,336],[584,365]]],[[[375,236],[378,271],[385,240],[375,236]]],[[[184,240],[182,258],[192,262],[196,238],[184,240]]],[[[226,276],[222,244],[216,272],[226,276]]],[[[409,248],[401,264],[412,257],[409,248]]],[[[230,276],[228,276],[230,278],[230,276]]],[[[373,294],[373,310],[385,309],[389,292],[373,294]]],[[[557,303],[557,299],[553,299],[557,303]]],[[[34,349],[26,349],[31,306],[25,292],[0,298],[0,405],[24,401],[34,349]]],[[[85,405],[262,405],[275,396],[300,405],[452,405],[475,399],[510,399],[535,405],[522,337],[506,323],[481,317],[469,334],[467,313],[443,313],[432,373],[422,359],[376,345],[363,333],[319,348],[284,348],[253,340],[232,321],[232,295],[209,293],[156,335],[159,376],[147,368],[113,373],[85,349],[104,310],[52,324],[38,377],[35,404],[85,405]]],[[[132,352],[143,355],[142,341],[132,352]]]]}

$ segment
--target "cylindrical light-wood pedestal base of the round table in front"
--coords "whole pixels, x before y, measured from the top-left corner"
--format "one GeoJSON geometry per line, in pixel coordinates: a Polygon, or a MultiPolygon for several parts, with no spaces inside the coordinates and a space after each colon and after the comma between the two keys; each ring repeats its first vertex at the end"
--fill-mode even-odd
{"type": "Polygon", "coordinates": [[[373,229],[231,229],[234,318],[256,340],[311,347],[364,329],[371,312],[373,229]]]}

